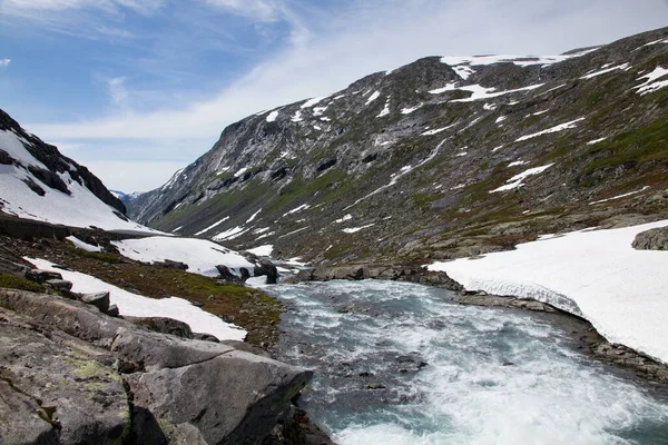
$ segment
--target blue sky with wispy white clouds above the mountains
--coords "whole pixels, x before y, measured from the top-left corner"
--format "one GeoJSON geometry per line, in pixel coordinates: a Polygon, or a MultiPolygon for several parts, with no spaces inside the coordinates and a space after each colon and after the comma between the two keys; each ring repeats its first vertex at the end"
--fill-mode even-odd
{"type": "Polygon", "coordinates": [[[668,0],[0,0],[0,108],[147,191],[248,115],[426,56],[558,55],[668,24],[668,0]]]}

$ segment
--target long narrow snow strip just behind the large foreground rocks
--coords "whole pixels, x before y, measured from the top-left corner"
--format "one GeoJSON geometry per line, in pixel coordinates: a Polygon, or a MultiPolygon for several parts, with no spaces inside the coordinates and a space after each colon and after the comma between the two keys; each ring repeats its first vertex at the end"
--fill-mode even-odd
{"type": "Polygon", "coordinates": [[[57,269],[45,259],[26,258],[36,267],[57,271],[63,279],[72,281],[72,290],[77,293],[108,291],[112,304],[118,306],[121,315],[132,317],[168,317],[187,323],[194,333],[216,336],[219,340],[244,340],[246,330],[223,322],[213,314],[193,306],[188,300],[177,297],[148,298],[132,294],[119,287],[78,271],[57,269]]]}

